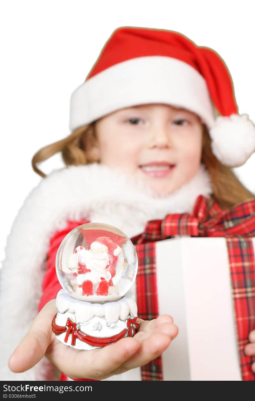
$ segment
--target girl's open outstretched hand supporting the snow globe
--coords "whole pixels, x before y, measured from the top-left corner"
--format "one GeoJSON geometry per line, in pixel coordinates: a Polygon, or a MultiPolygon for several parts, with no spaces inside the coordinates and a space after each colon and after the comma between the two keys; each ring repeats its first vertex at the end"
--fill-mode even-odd
{"type": "Polygon", "coordinates": [[[103,348],[77,350],[59,342],[51,331],[51,321],[57,313],[55,303],[56,300],[51,300],[39,312],[29,332],[10,356],[8,364],[13,372],[30,369],[45,354],[71,378],[102,380],[155,359],[178,333],[171,316],[161,315],[151,321],[139,319],[140,328],[134,337],[122,338],[103,348]]]}

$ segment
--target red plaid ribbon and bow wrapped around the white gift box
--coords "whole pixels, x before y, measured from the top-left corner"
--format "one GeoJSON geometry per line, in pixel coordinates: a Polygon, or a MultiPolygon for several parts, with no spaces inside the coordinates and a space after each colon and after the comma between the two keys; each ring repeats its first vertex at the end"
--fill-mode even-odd
{"type": "MultiPolygon", "coordinates": [[[[226,237],[242,376],[245,381],[255,380],[251,371],[255,358],[245,356],[243,352],[249,342],[249,332],[255,329],[255,258],[250,238],[255,237],[255,199],[226,210],[212,198],[200,195],[192,215],[169,214],[163,220],[149,221],[144,233],[131,239],[139,260],[137,306],[142,319],[158,316],[155,241],[176,235],[226,237]]],[[[161,358],[142,367],[142,380],[163,380],[161,358]]]]}

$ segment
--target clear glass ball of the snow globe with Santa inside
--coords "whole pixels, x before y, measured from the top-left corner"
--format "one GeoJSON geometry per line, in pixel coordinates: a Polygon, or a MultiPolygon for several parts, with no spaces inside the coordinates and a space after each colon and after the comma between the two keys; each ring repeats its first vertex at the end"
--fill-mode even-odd
{"type": "Polygon", "coordinates": [[[61,242],[56,256],[59,283],[72,298],[117,301],[131,288],[138,259],[131,240],[116,227],[82,224],[61,242]]]}

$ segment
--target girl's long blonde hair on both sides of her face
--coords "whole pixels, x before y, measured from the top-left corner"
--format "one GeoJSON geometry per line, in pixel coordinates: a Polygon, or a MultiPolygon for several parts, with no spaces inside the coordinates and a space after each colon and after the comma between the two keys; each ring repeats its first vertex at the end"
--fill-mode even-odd
{"type": "MultiPolygon", "coordinates": [[[[37,167],[38,163],[47,160],[54,154],[61,152],[66,166],[90,164],[96,160],[88,160],[84,139],[91,136],[96,139],[95,122],[74,130],[66,138],[41,148],[32,159],[35,172],[41,177],[46,175],[37,167]]],[[[239,181],[231,168],[224,166],[214,156],[211,149],[211,139],[208,130],[203,125],[202,163],[206,166],[212,181],[212,198],[222,208],[229,208],[237,203],[254,198],[245,186],[239,181]]]]}

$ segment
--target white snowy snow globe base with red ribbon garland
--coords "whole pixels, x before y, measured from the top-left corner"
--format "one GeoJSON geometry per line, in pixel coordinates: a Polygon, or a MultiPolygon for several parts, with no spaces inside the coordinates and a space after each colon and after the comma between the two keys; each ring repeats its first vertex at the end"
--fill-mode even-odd
{"type": "Polygon", "coordinates": [[[137,305],[131,292],[115,302],[91,303],[71,298],[60,290],[52,330],[63,344],[91,350],[134,336],[139,328],[137,305]]]}

